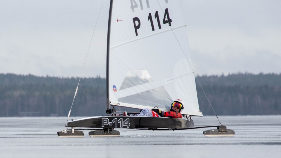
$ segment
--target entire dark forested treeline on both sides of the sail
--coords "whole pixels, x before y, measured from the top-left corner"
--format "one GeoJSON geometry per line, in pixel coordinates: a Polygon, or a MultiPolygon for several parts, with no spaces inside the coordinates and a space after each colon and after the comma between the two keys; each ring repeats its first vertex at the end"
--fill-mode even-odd
{"type": "MultiPolygon", "coordinates": [[[[67,116],[78,81],[0,74],[0,116],[67,116]]],[[[281,114],[281,74],[203,75],[196,86],[203,115],[281,114]]],[[[81,78],[71,116],[104,115],[105,104],[106,79],[81,78]]]]}

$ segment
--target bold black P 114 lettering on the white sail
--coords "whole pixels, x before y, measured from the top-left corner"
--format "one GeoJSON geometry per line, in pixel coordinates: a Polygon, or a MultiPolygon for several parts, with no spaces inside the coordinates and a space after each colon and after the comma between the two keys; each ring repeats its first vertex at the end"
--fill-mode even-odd
{"type": "MultiPolygon", "coordinates": [[[[155,12],[154,17],[157,20],[158,28],[161,29],[158,11],[155,12]]],[[[151,29],[152,29],[152,31],[154,31],[155,28],[154,28],[153,18],[152,18],[151,13],[148,14],[148,21],[150,21],[151,29]]],[[[165,13],[164,13],[164,18],[163,18],[163,24],[168,23],[169,26],[171,26],[172,25],[171,22],[172,22],[172,19],[170,19],[168,8],[166,8],[165,13]]],[[[138,35],[138,29],[140,28],[140,19],[138,17],[133,18],[133,23],[134,23],[134,27],[135,27],[135,33],[136,33],[136,36],[137,36],[138,35]],[[136,22],[138,22],[138,25],[137,25],[136,22]]]]}

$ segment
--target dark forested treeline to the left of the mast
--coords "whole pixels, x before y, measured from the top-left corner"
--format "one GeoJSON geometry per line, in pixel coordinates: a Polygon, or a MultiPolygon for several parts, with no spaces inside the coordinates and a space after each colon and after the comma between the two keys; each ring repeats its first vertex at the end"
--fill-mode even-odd
{"type": "MultiPolygon", "coordinates": [[[[79,78],[0,74],[0,116],[67,116],[79,78]]],[[[106,80],[81,78],[71,116],[105,114],[106,80]],[[98,106],[98,105],[104,106],[98,106]]]]}

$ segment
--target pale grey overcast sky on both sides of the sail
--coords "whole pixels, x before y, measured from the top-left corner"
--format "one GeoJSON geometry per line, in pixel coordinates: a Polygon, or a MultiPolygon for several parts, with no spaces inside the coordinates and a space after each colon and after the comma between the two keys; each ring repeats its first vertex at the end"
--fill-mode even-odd
{"type": "MultiPolygon", "coordinates": [[[[280,0],[182,3],[197,75],[281,73],[280,0]]],[[[105,77],[108,9],[109,0],[0,0],[0,73],[80,76],[90,45],[82,76],[105,77]]]]}

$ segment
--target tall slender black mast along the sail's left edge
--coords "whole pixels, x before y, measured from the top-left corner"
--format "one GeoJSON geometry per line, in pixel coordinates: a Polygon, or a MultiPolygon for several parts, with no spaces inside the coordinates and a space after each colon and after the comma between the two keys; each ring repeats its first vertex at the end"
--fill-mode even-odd
{"type": "Polygon", "coordinates": [[[112,15],[113,0],[110,0],[108,27],[107,27],[107,51],[106,51],[106,113],[111,114],[109,108],[109,49],[110,49],[110,28],[111,28],[111,15],[112,15]]]}

